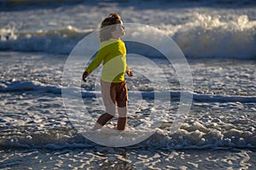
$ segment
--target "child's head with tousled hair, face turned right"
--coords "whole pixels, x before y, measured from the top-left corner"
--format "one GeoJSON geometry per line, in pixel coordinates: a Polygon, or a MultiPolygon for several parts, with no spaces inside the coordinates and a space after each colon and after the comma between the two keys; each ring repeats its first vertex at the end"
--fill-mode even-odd
{"type": "Polygon", "coordinates": [[[107,41],[110,38],[116,38],[125,34],[125,27],[119,14],[113,13],[102,21],[100,39],[101,42],[107,41]],[[115,26],[112,26],[115,25],[115,26]]]}

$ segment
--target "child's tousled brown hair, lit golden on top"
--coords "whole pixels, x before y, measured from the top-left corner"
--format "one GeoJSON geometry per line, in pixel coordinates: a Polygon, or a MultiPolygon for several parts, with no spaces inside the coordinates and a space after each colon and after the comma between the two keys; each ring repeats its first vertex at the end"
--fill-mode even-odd
{"type": "Polygon", "coordinates": [[[101,42],[107,41],[110,38],[112,38],[111,31],[115,31],[115,26],[112,26],[112,25],[120,24],[120,23],[121,23],[121,17],[119,16],[119,14],[116,14],[116,13],[109,14],[109,16],[102,21],[101,31],[100,31],[101,42]]]}

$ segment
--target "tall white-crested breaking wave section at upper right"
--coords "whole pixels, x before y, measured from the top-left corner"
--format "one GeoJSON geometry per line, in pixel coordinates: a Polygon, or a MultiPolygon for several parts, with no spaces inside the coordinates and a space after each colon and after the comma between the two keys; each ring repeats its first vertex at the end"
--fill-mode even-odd
{"type": "Polygon", "coordinates": [[[240,15],[236,20],[224,21],[218,15],[198,13],[195,18],[173,34],[183,54],[192,58],[255,59],[256,20],[240,15]]]}

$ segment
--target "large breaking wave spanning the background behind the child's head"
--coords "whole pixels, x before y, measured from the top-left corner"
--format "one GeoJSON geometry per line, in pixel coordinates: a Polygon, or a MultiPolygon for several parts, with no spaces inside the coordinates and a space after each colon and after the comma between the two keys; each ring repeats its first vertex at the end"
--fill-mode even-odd
{"type": "MultiPolygon", "coordinates": [[[[256,57],[256,21],[247,15],[239,15],[236,20],[223,20],[221,16],[195,13],[195,20],[183,25],[163,26],[161,31],[172,37],[183,54],[191,58],[232,58],[255,59],[256,57]]],[[[60,30],[19,32],[15,29],[0,30],[0,50],[45,52],[70,54],[76,44],[93,30],[79,30],[68,26],[60,30]]],[[[143,32],[148,41],[155,41],[151,31],[143,32]]],[[[137,34],[126,35],[126,37],[137,34]]],[[[124,37],[125,38],[125,37],[124,37]]],[[[136,37],[135,37],[136,38],[136,37]]],[[[129,38],[128,38],[129,39],[129,38]]],[[[126,44],[127,53],[155,56],[153,48],[126,44]]]]}

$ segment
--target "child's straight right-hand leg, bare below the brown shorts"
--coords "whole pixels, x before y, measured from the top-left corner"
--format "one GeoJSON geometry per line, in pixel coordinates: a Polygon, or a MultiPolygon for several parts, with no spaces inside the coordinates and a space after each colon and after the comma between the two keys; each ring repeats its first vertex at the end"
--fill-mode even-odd
{"type": "Polygon", "coordinates": [[[127,101],[118,102],[118,130],[125,130],[126,122],[127,122],[127,101]]]}

